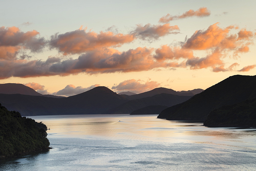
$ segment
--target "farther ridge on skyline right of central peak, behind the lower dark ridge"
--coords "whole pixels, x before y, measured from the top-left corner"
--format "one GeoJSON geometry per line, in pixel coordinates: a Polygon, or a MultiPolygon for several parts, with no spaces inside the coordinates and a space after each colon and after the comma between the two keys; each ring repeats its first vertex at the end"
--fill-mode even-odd
{"type": "MultiPolygon", "coordinates": [[[[140,94],[134,94],[134,95],[129,95],[129,96],[122,95],[122,96],[127,98],[127,99],[130,99],[130,100],[141,99],[141,98],[145,98],[145,97],[152,97],[153,95],[161,94],[161,93],[175,94],[175,95],[180,95],[180,96],[193,96],[194,93],[197,90],[201,91],[202,89],[194,89],[194,90],[189,90],[191,92],[187,92],[187,91],[179,92],[179,91],[175,91],[175,90],[172,90],[172,89],[167,89],[167,88],[164,88],[164,87],[160,87],[160,88],[155,88],[153,90],[150,90],[150,91],[147,91],[147,92],[144,92],[144,93],[140,93],[140,94]]],[[[202,90],[202,91],[204,91],[204,90],[202,90]]]]}

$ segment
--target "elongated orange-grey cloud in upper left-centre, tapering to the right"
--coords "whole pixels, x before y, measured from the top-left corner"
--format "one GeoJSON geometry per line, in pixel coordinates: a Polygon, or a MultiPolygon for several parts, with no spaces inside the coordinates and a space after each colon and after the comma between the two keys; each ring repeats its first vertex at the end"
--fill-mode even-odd
{"type": "Polygon", "coordinates": [[[64,55],[80,54],[97,48],[120,46],[134,40],[133,35],[114,34],[113,32],[86,32],[86,29],[78,29],[64,34],[51,36],[50,46],[57,48],[64,55]]]}

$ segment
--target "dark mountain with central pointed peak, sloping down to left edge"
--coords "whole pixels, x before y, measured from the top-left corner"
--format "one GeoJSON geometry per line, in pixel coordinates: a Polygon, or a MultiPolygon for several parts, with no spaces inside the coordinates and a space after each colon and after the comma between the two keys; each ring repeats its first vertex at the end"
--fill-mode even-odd
{"type": "Polygon", "coordinates": [[[95,87],[67,98],[50,98],[23,94],[0,94],[0,103],[22,116],[103,114],[128,100],[106,87],[95,87]]]}

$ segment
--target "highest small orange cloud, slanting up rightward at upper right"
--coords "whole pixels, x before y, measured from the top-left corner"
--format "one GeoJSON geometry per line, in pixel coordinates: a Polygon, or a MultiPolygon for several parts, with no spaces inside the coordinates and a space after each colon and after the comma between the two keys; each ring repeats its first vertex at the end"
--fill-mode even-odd
{"type": "Polygon", "coordinates": [[[188,18],[188,17],[206,17],[209,16],[211,13],[206,7],[199,8],[198,10],[194,11],[192,9],[188,10],[187,12],[183,13],[182,15],[175,15],[171,16],[170,14],[167,14],[166,16],[163,16],[159,19],[160,23],[168,23],[172,20],[182,19],[182,18],[188,18]]]}

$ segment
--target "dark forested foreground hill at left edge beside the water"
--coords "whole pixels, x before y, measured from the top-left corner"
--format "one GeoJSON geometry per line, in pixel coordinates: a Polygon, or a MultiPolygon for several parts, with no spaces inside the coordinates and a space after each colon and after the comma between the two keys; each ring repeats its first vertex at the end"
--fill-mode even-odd
{"type": "Polygon", "coordinates": [[[43,123],[8,111],[0,104],[0,159],[49,149],[43,123]]]}

